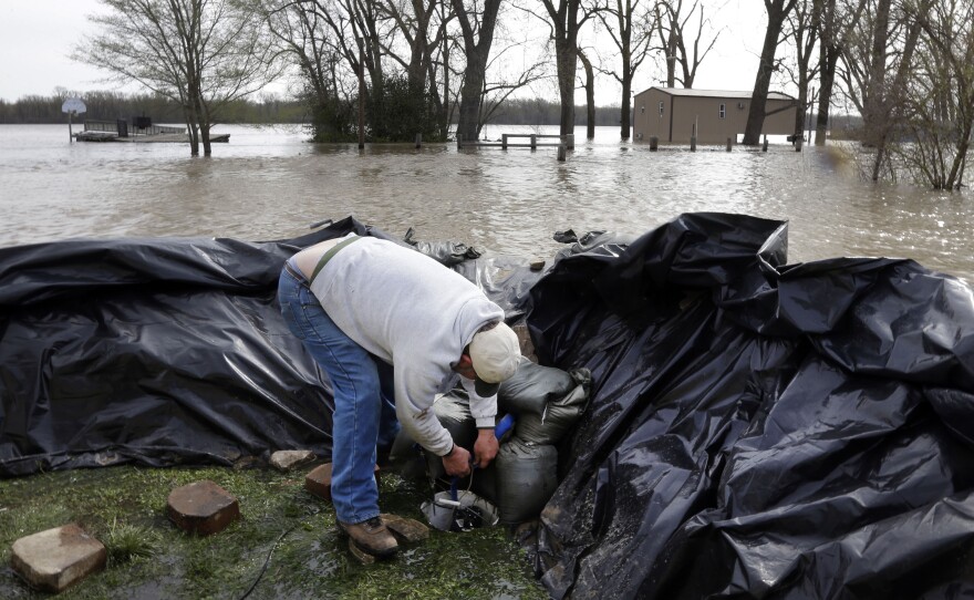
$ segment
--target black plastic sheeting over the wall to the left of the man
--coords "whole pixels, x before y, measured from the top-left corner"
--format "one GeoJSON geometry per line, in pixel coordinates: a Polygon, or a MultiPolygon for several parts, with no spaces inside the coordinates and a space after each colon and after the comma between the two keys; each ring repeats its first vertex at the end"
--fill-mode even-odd
{"type": "MultiPolygon", "coordinates": [[[[293,252],[352,230],[393,239],[346,218],[286,241],[0,249],[0,476],[230,465],[282,448],[329,456],[331,387],[288,331],[277,282],[293,252]]],[[[463,245],[421,244],[444,263],[469,256],[463,245]]],[[[467,262],[467,277],[522,313],[510,302],[525,303],[530,286],[519,281],[537,273],[524,268],[499,287],[495,261],[467,262]]]]}

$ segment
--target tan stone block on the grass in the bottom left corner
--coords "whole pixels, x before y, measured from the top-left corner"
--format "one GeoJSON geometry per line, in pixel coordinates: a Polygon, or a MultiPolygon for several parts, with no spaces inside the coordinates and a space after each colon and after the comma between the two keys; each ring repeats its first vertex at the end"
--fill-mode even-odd
{"type": "Polygon", "coordinates": [[[107,557],[101,541],[71,524],[18,539],[10,562],[32,587],[60,592],[104,569],[107,557]]]}

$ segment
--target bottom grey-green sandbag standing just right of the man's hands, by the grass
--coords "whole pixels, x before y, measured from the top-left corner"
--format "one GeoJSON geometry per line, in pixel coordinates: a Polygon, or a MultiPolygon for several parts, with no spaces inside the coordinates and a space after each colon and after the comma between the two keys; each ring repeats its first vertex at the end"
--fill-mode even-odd
{"type": "Polygon", "coordinates": [[[497,508],[500,523],[536,518],[558,487],[558,451],[512,437],[497,453],[497,508]]]}

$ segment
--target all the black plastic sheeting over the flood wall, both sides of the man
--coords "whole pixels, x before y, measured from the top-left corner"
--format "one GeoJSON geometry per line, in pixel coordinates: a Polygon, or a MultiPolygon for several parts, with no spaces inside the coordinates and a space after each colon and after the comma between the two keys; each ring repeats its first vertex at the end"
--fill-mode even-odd
{"type": "MultiPolygon", "coordinates": [[[[388,237],[0,250],[0,475],[327,455],[330,390],[274,291],[290,254],[353,229],[388,237]]],[[[468,258],[542,364],[592,373],[532,546],[552,597],[974,598],[967,287],[788,266],[785,224],[746,216],[559,239],[543,273],[422,248],[468,258]]]]}

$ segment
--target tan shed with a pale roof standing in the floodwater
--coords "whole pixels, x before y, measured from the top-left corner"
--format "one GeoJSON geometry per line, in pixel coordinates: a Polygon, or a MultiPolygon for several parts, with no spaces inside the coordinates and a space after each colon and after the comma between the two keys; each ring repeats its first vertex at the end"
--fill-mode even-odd
{"type": "MultiPolygon", "coordinates": [[[[633,102],[633,139],[688,144],[696,125],[697,143],[735,141],[747,125],[750,92],[650,87],[633,102]]],[[[780,92],[768,92],[763,135],[792,135],[798,102],[780,92]]],[[[736,143],[736,142],[735,142],[736,143]]]]}

